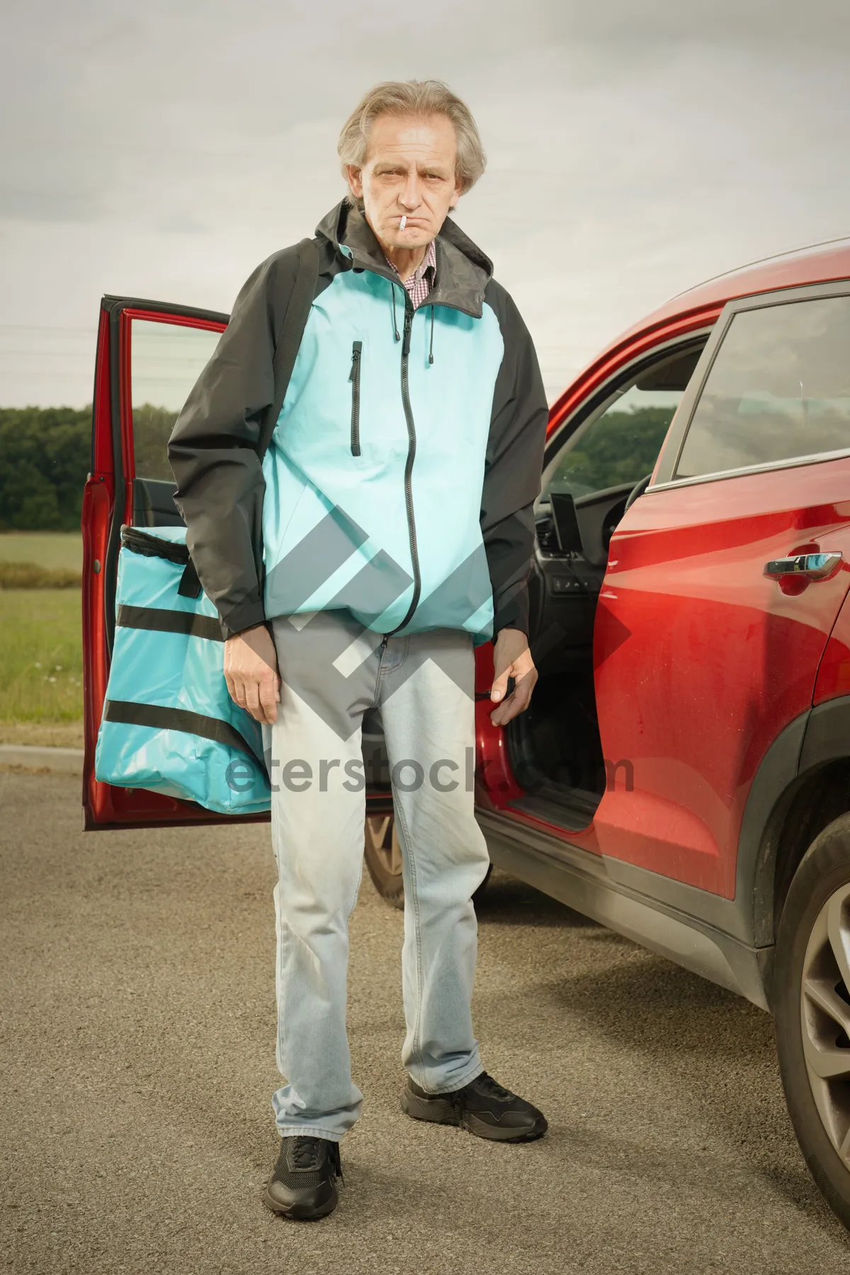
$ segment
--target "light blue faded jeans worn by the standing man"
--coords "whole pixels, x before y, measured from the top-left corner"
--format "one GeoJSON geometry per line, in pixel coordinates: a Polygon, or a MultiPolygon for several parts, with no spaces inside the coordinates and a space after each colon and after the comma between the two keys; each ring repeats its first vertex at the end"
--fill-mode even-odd
{"type": "MultiPolygon", "coordinates": [[[[401,1062],[428,1093],[483,1070],[470,998],[472,895],[488,868],[474,817],[469,634],[389,638],[347,611],[273,621],[282,700],[264,727],[278,866],[278,1132],[338,1141],[361,1112],[345,1033],[348,918],[363,870],[363,714],[378,708],[403,853],[401,1062]]],[[[371,780],[371,775],[366,775],[371,780]]]]}

